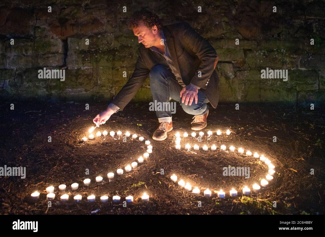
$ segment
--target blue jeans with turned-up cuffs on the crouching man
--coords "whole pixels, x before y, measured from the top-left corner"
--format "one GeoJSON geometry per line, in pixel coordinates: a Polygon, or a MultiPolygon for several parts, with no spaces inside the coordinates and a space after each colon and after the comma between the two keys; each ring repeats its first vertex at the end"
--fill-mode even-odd
{"type": "MultiPolygon", "coordinates": [[[[172,98],[175,101],[178,101],[182,106],[183,110],[191,115],[203,115],[208,111],[208,106],[206,103],[209,100],[206,96],[199,90],[198,92],[198,103],[195,104],[193,100],[192,104],[185,105],[182,103],[182,98],[180,92],[183,89],[180,84],[178,84],[175,75],[162,65],[154,66],[150,73],[150,90],[152,94],[153,101],[157,102],[169,102],[169,99],[172,98]]],[[[159,122],[170,122],[172,121],[172,111],[156,111],[159,122]]]]}

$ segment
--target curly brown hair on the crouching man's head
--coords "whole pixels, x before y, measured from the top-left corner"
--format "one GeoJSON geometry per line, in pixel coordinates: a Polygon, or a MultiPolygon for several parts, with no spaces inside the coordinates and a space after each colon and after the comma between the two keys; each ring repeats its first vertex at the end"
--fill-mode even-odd
{"type": "Polygon", "coordinates": [[[135,11],[132,17],[128,20],[128,26],[132,30],[133,28],[136,28],[140,22],[143,22],[149,29],[153,26],[157,26],[159,31],[162,29],[161,19],[156,14],[146,9],[135,11]]]}

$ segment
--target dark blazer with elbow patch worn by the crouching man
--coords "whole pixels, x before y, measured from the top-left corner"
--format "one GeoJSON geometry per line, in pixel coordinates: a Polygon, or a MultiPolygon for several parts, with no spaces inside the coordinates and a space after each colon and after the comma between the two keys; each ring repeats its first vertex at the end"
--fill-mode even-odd
{"type": "MultiPolygon", "coordinates": [[[[166,37],[173,65],[181,76],[181,79],[176,78],[177,81],[182,80],[186,85],[191,82],[201,87],[200,91],[216,108],[219,100],[219,77],[214,70],[218,62],[214,48],[186,22],[166,25],[162,31],[166,37]],[[201,77],[198,71],[201,71],[201,77]]],[[[132,76],[111,101],[121,110],[141,88],[150,70],[158,64],[165,64],[165,60],[157,52],[146,48],[143,44],[140,45],[138,53],[132,76]]]]}

